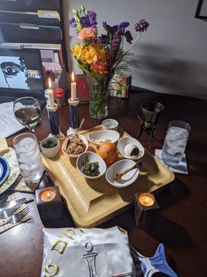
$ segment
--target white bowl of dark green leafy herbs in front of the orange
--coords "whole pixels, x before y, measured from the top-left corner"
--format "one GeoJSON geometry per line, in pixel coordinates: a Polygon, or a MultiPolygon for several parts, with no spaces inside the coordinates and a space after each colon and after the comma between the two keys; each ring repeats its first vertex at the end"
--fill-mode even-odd
{"type": "Polygon", "coordinates": [[[83,177],[88,178],[88,179],[97,179],[100,178],[101,176],[103,176],[103,174],[105,174],[106,172],[106,163],[105,161],[103,161],[103,159],[96,154],[95,152],[84,152],[82,154],[80,154],[80,156],[77,159],[77,170],[79,170],[80,174],[83,175],[83,177]],[[83,159],[85,157],[88,157],[89,162],[90,163],[94,163],[95,161],[99,162],[99,172],[100,174],[98,176],[87,176],[85,174],[83,174],[82,172],[82,165],[83,165],[83,159]]]}

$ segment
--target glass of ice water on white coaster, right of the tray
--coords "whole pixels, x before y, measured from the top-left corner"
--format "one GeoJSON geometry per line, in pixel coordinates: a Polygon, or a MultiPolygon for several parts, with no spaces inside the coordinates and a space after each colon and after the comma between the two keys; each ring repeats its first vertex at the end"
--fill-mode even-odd
{"type": "Polygon", "coordinates": [[[167,166],[176,166],[186,149],[190,125],[181,120],[171,121],[161,150],[161,159],[167,166]]]}

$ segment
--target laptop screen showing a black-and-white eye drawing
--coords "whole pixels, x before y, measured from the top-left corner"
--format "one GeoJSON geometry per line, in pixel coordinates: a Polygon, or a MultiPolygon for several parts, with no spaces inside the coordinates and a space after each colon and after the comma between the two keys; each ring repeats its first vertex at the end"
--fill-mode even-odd
{"type": "Polygon", "coordinates": [[[44,99],[43,91],[39,49],[0,48],[0,97],[44,99]]]}

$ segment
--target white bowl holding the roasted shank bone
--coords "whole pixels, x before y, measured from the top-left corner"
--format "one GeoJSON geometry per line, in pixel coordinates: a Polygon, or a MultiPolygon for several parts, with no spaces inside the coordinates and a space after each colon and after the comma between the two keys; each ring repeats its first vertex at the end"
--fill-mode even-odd
{"type": "Polygon", "coordinates": [[[110,183],[112,186],[115,186],[116,188],[126,188],[127,186],[130,186],[137,180],[137,177],[139,176],[138,168],[130,170],[130,172],[122,176],[119,181],[115,181],[114,175],[116,173],[121,173],[124,170],[131,168],[132,166],[135,166],[135,164],[135,161],[128,159],[117,161],[116,163],[112,164],[112,166],[110,166],[110,168],[108,168],[108,170],[106,171],[106,180],[108,181],[108,183],[110,183]]]}

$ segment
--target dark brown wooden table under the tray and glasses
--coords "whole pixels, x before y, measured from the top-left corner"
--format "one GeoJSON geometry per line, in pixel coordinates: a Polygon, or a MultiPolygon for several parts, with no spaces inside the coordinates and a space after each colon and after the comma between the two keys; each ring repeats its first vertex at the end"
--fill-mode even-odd
{"type": "MultiPolygon", "coordinates": [[[[162,93],[132,93],[130,100],[110,99],[109,117],[119,120],[119,124],[131,136],[137,136],[139,121],[137,113],[141,102],[156,100],[164,105],[159,118],[155,136],[159,141],[153,143],[161,148],[168,123],[171,120],[184,120],[190,124],[192,131],[187,145],[189,175],[176,175],[172,186],[157,195],[161,213],[157,227],[146,233],[135,226],[134,211],[130,210],[102,224],[101,228],[119,225],[128,231],[130,243],[145,256],[152,256],[159,242],[163,242],[169,265],[179,276],[206,276],[206,110],[207,102],[184,96],[172,96],[162,93]]],[[[86,118],[85,128],[101,123],[92,120],[88,114],[88,105],[80,107],[80,116],[86,118]]],[[[59,111],[61,131],[68,129],[68,107],[59,111]]],[[[46,109],[43,110],[42,123],[36,128],[39,140],[50,132],[46,109]]],[[[146,134],[141,137],[145,146],[146,134]]],[[[12,138],[8,139],[12,145],[12,138]]],[[[45,175],[40,187],[51,186],[45,175]]],[[[26,195],[26,194],[24,194],[26,195]]],[[[48,228],[74,226],[70,215],[63,206],[60,220],[41,222],[35,202],[30,205],[33,222],[14,227],[0,235],[0,276],[1,277],[38,277],[41,272],[43,254],[43,226],[48,228]]],[[[157,274],[161,276],[161,274],[157,274]]],[[[164,275],[162,275],[164,276],[164,275]]],[[[71,276],[73,277],[73,276],[71,276]]]]}

